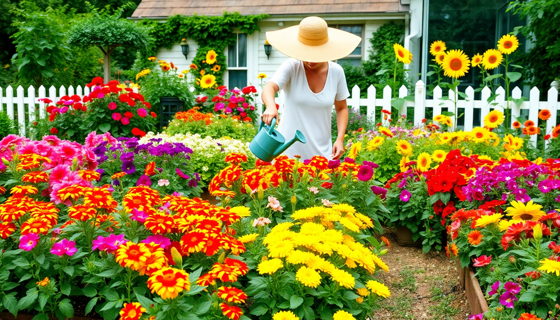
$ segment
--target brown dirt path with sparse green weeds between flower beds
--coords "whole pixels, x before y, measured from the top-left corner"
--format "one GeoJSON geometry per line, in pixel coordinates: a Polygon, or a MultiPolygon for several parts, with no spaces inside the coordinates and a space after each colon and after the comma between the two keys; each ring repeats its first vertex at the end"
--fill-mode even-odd
{"type": "Polygon", "coordinates": [[[445,251],[424,255],[421,248],[399,246],[393,228],[385,228],[383,236],[391,242],[389,253],[382,257],[389,272],[379,275],[391,297],[372,319],[463,320],[469,316],[456,260],[447,258],[445,251]]]}

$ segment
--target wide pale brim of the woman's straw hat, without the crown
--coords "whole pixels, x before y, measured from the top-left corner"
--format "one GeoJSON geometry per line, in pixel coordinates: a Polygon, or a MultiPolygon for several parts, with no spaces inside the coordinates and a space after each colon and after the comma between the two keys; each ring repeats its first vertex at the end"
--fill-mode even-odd
{"type": "Polygon", "coordinates": [[[288,57],[305,62],[327,62],[342,59],[356,49],[362,38],[350,32],[328,28],[329,40],[321,45],[306,45],[297,40],[300,26],[268,31],[267,41],[288,57]]]}

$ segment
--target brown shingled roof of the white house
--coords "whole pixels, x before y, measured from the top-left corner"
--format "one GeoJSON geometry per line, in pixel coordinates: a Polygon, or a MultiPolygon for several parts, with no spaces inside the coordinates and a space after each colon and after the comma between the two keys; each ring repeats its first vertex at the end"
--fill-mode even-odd
{"type": "Polygon", "coordinates": [[[400,0],[142,0],[132,18],[174,15],[221,16],[223,12],[241,15],[323,15],[333,13],[377,13],[408,11],[400,0]]]}

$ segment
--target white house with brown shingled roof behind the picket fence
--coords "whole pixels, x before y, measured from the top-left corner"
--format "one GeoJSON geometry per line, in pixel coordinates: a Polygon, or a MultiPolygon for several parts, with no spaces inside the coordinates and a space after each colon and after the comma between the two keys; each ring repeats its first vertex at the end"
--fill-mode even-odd
{"type": "MultiPolygon", "coordinates": [[[[414,56],[409,75],[416,78],[413,80],[430,83],[427,74],[430,64],[434,64],[429,53],[432,41],[443,40],[447,49],[463,49],[469,57],[495,48],[501,35],[524,23],[506,12],[507,3],[507,0],[142,0],[130,18],[165,21],[173,15],[221,16],[224,11],[270,15],[259,22],[260,31],[252,35],[237,34],[236,48],[226,50],[225,84],[229,87],[259,83],[256,78],[259,73],[272,76],[288,58],[274,48],[267,57],[264,50],[267,31],[297,25],[307,16],[319,16],[330,27],[362,37],[361,45],[338,61],[359,65],[361,60],[368,59],[372,33],[384,23],[394,21],[405,25],[404,46],[414,56]],[[235,60],[230,58],[233,54],[235,60]]],[[[525,43],[523,40],[520,42],[525,43]]],[[[179,43],[170,50],[161,49],[157,57],[172,61],[179,70],[188,69],[198,46],[192,39],[187,42],[190,50],[186,59],[179,43]]],[[[470,72],[461,79],[461,85],[478,87],[478,76],[477,70],[470,72]]]]}

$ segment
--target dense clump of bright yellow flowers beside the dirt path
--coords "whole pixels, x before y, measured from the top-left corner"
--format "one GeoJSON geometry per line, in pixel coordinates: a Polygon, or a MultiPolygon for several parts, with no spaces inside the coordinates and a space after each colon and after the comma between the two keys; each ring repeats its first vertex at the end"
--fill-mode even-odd
{"type": "Polygon", "coordinates": [[[360,303],[372,293],[389,297],[389,289],[375,280],[366,281],[366,288],[356,288],[356,279],[348,272],[357,268],[369,275],[378,268],[389,271],[370,248],[354,238],[361,230],[374,227],[371,218],[347,204],[301,209],[291,218],[294,222],[278,224],[265,236],[268,256],[259,263],[259,274],[273,275],[288,268],[295,271],[297,281],[310,288],[330,279],[340,287],[357,289],[360,303]]]}

